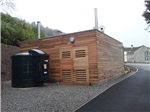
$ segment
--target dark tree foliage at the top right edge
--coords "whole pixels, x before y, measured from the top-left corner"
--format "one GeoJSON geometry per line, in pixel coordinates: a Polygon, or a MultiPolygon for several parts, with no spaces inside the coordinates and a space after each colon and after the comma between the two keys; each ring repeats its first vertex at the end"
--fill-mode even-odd
{"type": "Polygon", "coordinates": [[[147,24],[150,24],[150,0],[144,0],[146,10],[143,12],[142,16],[145,18],[147,24]]]}

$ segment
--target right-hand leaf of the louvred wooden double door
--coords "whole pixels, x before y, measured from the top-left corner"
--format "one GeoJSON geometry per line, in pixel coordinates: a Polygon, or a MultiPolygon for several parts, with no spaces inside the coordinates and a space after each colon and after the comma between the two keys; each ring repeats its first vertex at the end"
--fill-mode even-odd
{"type": "Polygon", "coordinates": [[[89,85],[88,47],[73,48],[73,82],[77,85],[89,85]]]}

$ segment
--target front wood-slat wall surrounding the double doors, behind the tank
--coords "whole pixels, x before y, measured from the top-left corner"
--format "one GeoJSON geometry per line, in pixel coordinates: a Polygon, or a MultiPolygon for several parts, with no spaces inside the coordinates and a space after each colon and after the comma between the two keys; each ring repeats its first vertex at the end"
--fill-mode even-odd
{"type": "Polygon", "coordinates": [[[57,37],[45,38],[22,42],[20,52],[28,52],[29,49],[40,49],[50,55],[50,80],[60,81],[60,47],[65,46],[88,46],[89,81],[97,82],[97,45],[96,30],[60,35],[57,37]],[[75,42],[70,42],[70,37],[75,37],[75,42]]]}

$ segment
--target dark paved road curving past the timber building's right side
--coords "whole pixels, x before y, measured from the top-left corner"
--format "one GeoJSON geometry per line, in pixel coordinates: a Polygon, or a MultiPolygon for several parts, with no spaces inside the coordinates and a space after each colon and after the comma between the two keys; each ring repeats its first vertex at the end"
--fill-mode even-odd
{"type": "Polygon", "coordinates": [[[139,69],[76,112],[150,112],[150,64],[128,64],[139,69]]]}

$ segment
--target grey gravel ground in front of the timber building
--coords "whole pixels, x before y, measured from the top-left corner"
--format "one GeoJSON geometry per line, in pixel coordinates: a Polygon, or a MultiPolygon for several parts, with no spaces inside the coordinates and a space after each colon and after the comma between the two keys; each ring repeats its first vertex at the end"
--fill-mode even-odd
{"type": "Polygon", "coordinates": [[[42,87],[12,88],[11,82],[4,84],[1,112],[70,112],[101,94],[114,84],[133,75],[121,76],[99,87],[79,85],[57,85],[46,83],[42,87]]]}

